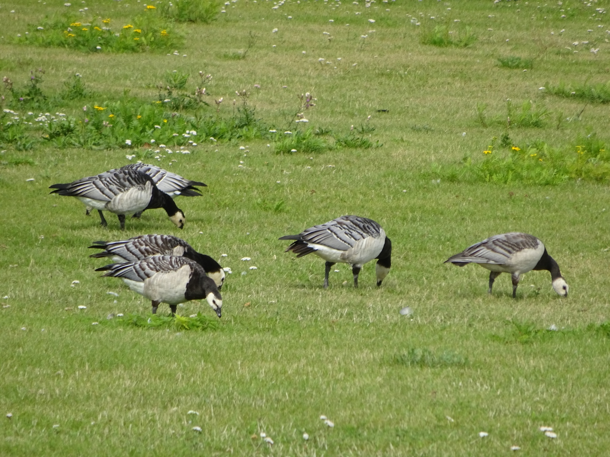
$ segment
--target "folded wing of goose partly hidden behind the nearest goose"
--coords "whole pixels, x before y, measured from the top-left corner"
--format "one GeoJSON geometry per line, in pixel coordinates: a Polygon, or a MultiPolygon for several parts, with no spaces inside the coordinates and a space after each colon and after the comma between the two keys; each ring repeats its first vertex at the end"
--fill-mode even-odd
{"type": "Polygon", "coordinates": [[[173,255],[174,248],[184,247],[187,250],[190,245],[176,236],[171,235],[140,235],[134,238],[121,241],[110,241],[109,243],[99,243],[91,248],[104,249],[90,257],[112,257],[116,255],[127,261],[142,260],[153,255],[173,255]]]}

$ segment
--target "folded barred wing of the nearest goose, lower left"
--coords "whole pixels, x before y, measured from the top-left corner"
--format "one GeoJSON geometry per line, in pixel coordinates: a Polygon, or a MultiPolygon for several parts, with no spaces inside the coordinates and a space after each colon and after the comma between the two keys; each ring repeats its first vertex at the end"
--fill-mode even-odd
{"type": "MultiPolygon", "coordinates": [[[[95,271],[106,271],[102,276],[115,278],[127,278],[135,282],[144,282],[157,273],[168,273],[176,271],[188,265],[191,269],[198,268],[198,264],[185,257],[173,255],[154,255],[143,260],[129,263],[113,263],[96,269],[95,271]]],[[[199,267],[201,268],[201,267],[199,267]]],[[[203,268],[201,269],[203,271],[203,268]]]]}

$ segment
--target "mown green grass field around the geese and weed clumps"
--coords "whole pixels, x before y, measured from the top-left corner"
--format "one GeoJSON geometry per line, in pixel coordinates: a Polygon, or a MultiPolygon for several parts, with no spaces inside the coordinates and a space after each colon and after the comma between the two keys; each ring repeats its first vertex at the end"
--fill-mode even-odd
{"type": "MultiPolygon", "coordinates": [[[[375,127],[365,135],[382,146],[277,154],[272,137],[200,138],[191,154],[148,158],[161,166],[176,160],[172,171],[207,183],[203,197],[176,200],[184,230],[156,210],[128,220],[123,233],[114,216],[103,229],[48,186],[123,166],[145,148],[38,140],[20,151],[6,143],[0,413],[12,417],[0,420],[0,455],[490,456],[514,445],[519,455],[608,453],[610,331],[600,325],[610,319],[607,180],[466,183],[439,181],[435,170],[467,154],[483,160],[492,137],[504,133],[514,144],[558,148],[579,134],[608,140],[607,104],[539,88],[608,82],[609,2],[287,0],[272,9],[271,1],[234,0],[210,24],[174,24],[184,44],[170,55],[15,43],[45,15],[122,24],[145,9],[134,0],[63,2],[0,4],[0,76],[23,87],[43,68],[41,87],[54,94],[80,73],[93,91],[57,112],[82,116],[83,105],[125,90],[155,101],[157,83],[173,70],[189,73],[194,91],[203,71],[213,76],[210,113],[223,97],[220,115],[231,115],[235,91],[245,89],[267,127],[304,129],[292,115],[296,96],[310,92],[317,101],[308,126],[342,135],[352,125],[375,127]],[[464,48],[423,44],[439,24],[461,37],[468,27],[478,39],[464,48]],[[531,59],[527,71],[501,66],[498,58],[509,56],[531,59]],[[542,127],[508,128],[506,99],[551,114],[542,127]],[[477,104],[502,123],[477,123],[477,104]],[[320,258],[283,253],[288,243],[279,236],[342,214],[375,219],[392,239],[381,288],[371,263],[359,289],[350,268],[338,265],[324,290],[320,258]],[[513,300],[508,275],[488,296],[486,270],[443,264],[510,231],[544,241],[570,285],[567,299],[553,292],[548,272],[526,274],[513,300]],[[218,328],[143,329],[106,319],[145,316],[150,303],[99,278],[93,270],[104,263],[86,248],[143,233],[180,236],[232,268],[218,328]],[[404,306],[411,316],[398,313],[404,306]],[[547,331],[551,325],[558,331],[547,331]]],[[[178,309],[216,319],[205,302],[178,309]]]]}

